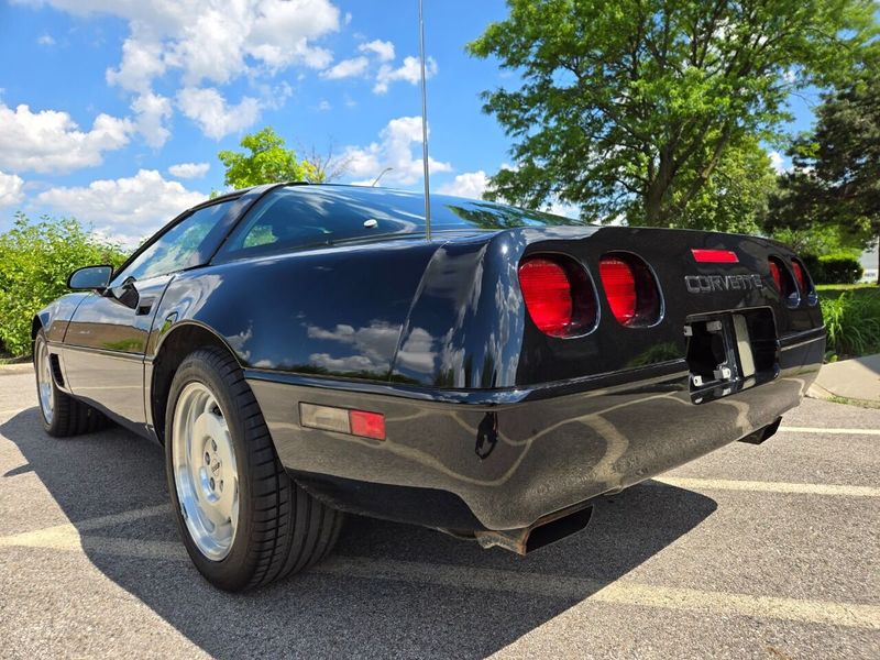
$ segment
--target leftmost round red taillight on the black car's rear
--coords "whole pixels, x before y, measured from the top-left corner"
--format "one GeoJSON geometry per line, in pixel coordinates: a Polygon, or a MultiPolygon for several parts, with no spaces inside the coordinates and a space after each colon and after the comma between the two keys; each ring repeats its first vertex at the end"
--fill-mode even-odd
{"type": "Polygon", "coordinates": [[[549,258],[530,258],[519,266],[519,287],[535,324],[546,334],[564,337],[574,304],[565,268],[549,258]]]}

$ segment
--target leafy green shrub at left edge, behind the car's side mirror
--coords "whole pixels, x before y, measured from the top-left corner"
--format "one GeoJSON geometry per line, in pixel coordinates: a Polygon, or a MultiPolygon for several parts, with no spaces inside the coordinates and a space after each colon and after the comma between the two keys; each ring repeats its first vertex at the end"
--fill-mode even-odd
{"type": "Polygon", "coordinates": [[[74,219],[41,218],[31,222],[16,213],[12,229],[0,234],[0,344],[12,355],[31,350],[31,320],[67,293],[76,268],[118,266],[125,253],[97,240],[74,219]]]}

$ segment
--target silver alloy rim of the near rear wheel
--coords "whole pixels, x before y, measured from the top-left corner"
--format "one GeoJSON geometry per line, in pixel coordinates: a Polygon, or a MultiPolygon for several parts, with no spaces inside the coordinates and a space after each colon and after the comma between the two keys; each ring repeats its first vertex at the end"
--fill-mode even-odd
{"type": "Polygon", "coordinates": [[[184,387],[174,408],[174,485],[189,536],[201,553],[220,561],[239,525],[239,470],[226,416],[207,385],[184,387]]]}

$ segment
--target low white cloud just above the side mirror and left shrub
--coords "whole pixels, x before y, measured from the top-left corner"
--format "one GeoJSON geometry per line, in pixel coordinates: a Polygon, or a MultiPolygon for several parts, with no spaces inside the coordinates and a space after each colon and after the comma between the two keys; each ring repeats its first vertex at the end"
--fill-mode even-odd
{"type": "Polygon", "coordinates": [[[35,202],[90,222],[109,239],[135,243],[207,196],[165,180],[155,169],[92,182],[86,187],[51,188],[35,202]]]}

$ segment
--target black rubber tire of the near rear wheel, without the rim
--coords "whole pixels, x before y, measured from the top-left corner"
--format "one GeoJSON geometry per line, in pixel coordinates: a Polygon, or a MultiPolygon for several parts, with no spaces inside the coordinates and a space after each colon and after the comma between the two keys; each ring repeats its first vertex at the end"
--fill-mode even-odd
{"type": "Polygon", "coordinates": [[[165,463],[174,516],[199,572],[224,591],[263,586],[299,572],[333,548],[343,514],[296,485],[275,452],[272,437],[239,364],[227,352],[200,349],[178,367],[165,415],[165,463]],[[219,404],[234,451],[239,480],[238,526],[228,554],[209,559],[184,517],[174,470],[174,416],[182,392],[199,383],[219,404]]]}

